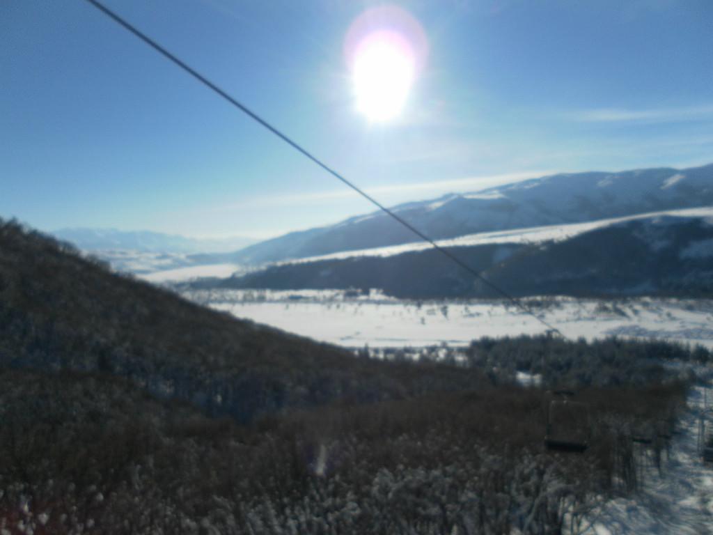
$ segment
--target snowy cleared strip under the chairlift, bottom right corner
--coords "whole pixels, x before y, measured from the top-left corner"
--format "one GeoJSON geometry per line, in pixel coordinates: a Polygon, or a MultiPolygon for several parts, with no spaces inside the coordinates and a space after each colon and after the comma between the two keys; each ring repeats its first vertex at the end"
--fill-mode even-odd
{"type": "MultiPolygon", "coordinates": [[[[713,389],[707,388],[710,422],[713,389]]],[[[651,462],[645,464],[643,488],[628,499],[603,504],[583,535],[713,534],[713,467],[702,462],[697,449],[702,401],[703,388],[697,387],[689,396],[681,433],[672,438],[672,455],[664,461],[662,474],[651,462]]]]}

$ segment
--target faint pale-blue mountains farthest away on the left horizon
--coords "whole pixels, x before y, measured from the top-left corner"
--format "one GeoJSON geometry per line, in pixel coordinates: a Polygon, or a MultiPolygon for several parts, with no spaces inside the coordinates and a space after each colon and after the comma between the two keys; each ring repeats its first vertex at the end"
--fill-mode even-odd
{"type": "Polygon", "coordinates": [[[113,228],[64,228],[53,233],[59,240],[73,243],[85,251],[138,251],[140,253],[225,253],[257,240],[242,236],[222,239],[186,238],[181,235],[113,228]]]}

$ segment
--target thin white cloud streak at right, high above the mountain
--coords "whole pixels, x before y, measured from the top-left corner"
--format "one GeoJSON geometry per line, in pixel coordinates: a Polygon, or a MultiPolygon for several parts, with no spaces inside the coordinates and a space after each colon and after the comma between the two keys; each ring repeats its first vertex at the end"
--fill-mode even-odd
{"type": "Polygon", "coordinates": [[[594,108],[575,112],[573,118],[588,123],[675,123],[709,120],[713,118],[713,105],[646,110],[594,108]]]}

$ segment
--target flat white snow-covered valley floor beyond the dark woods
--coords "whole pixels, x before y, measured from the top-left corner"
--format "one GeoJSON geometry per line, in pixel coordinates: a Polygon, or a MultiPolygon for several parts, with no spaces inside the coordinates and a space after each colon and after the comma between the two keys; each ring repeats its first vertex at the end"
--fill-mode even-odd
{"type": "MultiPolygon", "coordinates": [[[[498,301],[416,302],[342,290],[200,290],[184,295],[236,317],[347,347],[458,346],[483,336],[546,330],[523,310],[498,301]]],[[[654,337],[713,347],[713,300],[542,297],[525,302],[568,337],[654,337]]]]}

